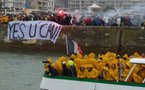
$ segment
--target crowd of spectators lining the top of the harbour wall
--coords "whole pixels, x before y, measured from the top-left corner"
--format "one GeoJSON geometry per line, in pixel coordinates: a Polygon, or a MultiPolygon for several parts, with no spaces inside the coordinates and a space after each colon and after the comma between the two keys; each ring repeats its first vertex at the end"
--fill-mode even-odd
{"type": "MultiPolygon", "coordinates": [[[[141,26],[144,24],[145,15],[115,15],[112,17],[105,15],[73,15],[70,13],[32,13],[6,15],[8,21],[54,21],[61,25],[81,25],[81,26],[141,26]]],[[[1,15],[4,17],[4,15],[1,15]]],[[[7,23],[1,22],[1,23],[7,23]]]]}

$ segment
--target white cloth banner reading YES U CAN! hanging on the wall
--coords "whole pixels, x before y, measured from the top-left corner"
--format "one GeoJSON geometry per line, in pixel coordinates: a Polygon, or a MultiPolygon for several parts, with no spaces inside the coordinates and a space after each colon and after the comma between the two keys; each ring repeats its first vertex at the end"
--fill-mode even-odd
{"type": "Polygon", "coordinates": [[[13,21],[8,24],[8,39],[39,39],[56,42],[62,26],[51,21],[13,21]]]}

